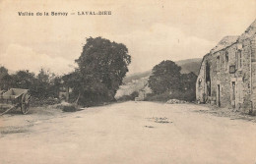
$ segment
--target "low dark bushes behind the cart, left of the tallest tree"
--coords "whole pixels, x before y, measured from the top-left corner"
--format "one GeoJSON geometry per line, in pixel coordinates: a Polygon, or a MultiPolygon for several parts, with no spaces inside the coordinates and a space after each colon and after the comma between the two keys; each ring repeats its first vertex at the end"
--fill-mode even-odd
{"type": "Polygon", "coordinates": [[[32,105],[57,103],[60,77],[43,69],[35,76],[28,70],[21,70],[13,75],[8,74],[6,68],[0,68],[0,89],[8,90],[12,87],[30,89],[32,105]]]}

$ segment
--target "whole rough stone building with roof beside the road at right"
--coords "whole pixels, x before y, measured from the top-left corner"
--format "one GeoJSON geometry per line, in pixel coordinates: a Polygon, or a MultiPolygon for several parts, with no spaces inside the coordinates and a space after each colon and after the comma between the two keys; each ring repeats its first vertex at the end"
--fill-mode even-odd
{"type": "Polygon", "coordinates": [[[250,113],[256,110],[256,20],[239,36],[225,36],[204,56],[197,101],[250,113]]]}

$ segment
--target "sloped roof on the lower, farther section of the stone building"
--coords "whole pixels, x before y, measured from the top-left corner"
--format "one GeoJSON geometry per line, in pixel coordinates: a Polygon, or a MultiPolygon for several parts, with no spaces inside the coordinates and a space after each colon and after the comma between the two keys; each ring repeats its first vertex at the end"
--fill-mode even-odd
{"type": "Polygon", "coordinates": [[[224,36],[224,38],[215,46],[212,50],[211,53],[215,53],[217,51],[220,51],[224,49],[225,47],[230,46],[234,42],[236,42],[238,36],[224,36]]]}

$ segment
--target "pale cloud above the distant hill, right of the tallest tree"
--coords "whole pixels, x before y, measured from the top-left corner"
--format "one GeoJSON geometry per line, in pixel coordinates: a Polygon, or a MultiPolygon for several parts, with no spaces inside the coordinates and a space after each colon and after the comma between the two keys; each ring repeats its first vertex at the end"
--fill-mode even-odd
{"type": "Polygon", "coordinates": [[[162,60],[202,58],[216,44],[204,38],[187,35],[179,28],[162,24],[123,35],[102,35],[127,45],[132,56],[130,73],[151,70],[162,60]]]}

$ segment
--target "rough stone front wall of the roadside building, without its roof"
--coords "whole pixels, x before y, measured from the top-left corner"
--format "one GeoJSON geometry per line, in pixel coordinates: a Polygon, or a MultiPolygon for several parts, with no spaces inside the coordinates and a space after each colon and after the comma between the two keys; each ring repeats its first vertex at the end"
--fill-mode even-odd
{"type": "Polygon", "coordinates": [[[252,105],[254,105],[255,109],[256,96],[252,96],[252,92],[256,94],[255,45],[255,38],[247,38],[206,55],[198,76],[197,99],[203,102],[202,99],[207,94],[206,63],[209,63],[211,66],[211,96],[206,98],[208,99],[207,102],[212,102],[216,105],[220,104],[221,107],[233,107],[244,112],[249,112],[252,109],[252,105]],[[239,68],[238,51],[240,51],[242,57],[241,67],[239,68]],[[254,62],[251,62],[252,58],[254,62]],[[235,67],[235,73],[229,73],[230,66],[235,67]],[[251,76],[252,73],[253,77],[251,76]],[[252,98],[254,99],[252,100],[252,98]],[[252,101],[254,102],[253,104],[252,101]]]}

